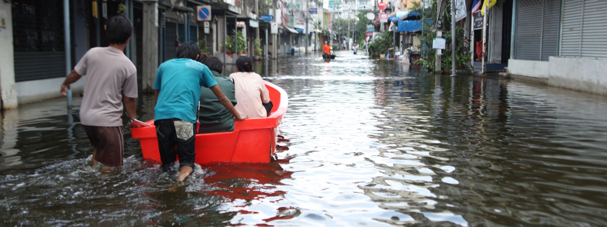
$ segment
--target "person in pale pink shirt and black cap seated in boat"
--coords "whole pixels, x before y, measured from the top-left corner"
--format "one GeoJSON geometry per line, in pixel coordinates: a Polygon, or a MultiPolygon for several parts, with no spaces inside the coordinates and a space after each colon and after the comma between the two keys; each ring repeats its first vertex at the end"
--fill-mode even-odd
{"type": "Polygon", "coordinates": [[[251,118],[268,117],[263,104],[270,103],[270,91],[263,84],[262,77],[253,72],[253,59],[240,56],[236,59],[236,71],[229,75],[236,87],[236,110],[251,118]]]}

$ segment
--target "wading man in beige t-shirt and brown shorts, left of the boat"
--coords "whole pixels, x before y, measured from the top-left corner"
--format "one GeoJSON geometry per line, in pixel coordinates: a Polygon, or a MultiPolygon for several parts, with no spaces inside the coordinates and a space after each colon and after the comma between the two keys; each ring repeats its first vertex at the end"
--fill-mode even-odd
{"type": "Polygon", "coordinates": [[[137,68],[123,53],[131,40],[132,30],[131,21],[126,17],[110,18],[106,24],[109,47],[95,47],[87,51],[61,84],[61,94],[65,96],[70,84],[82,76],[87,77],[80,121],[95,147],[93,166],[97,162],[107,166],[123,165],[123,122],[120,118],[123,102],[124,110],[131,119],[131,127],[137,97],[137,68]]]}

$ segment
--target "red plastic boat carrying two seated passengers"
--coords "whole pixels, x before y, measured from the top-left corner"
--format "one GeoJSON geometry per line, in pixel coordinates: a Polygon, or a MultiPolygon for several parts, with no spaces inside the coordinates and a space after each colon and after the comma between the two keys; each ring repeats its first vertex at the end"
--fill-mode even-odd
{"type": "MultiPolygon", "coordinates": [[[[263,81],[270,91],[274,107],[268,118],[252,118],[234,122],[234,131],[227,133],[196,134],[196,163],[209,162],[270,162],[276,150],[277,128],[287,113],[287,93],[282,88],[263,81]]],[[[154,120],[149,120],[154,125],[154,120]]],[[[143,159],[160,162],[156,128],[131,130],[133,139],[139,139],[143,159]]]]}

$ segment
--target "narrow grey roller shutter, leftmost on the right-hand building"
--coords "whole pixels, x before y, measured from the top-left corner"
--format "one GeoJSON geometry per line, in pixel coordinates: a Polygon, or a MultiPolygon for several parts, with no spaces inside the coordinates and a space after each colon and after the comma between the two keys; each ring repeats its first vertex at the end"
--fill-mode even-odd
{"type": "Polygon", "coordinates": [[[541,0],[517,1],[515,59],[540,60],[541,0]]]}

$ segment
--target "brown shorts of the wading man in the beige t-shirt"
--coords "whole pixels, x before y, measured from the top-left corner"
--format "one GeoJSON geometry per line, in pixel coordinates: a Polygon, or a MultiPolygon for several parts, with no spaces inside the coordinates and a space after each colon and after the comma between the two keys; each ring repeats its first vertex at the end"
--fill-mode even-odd
{"type": "Polygon", "coordinates": [[[93,159],[107,166],[122,165],[124,156],[123,127],[83,125],[90,143],[97,149],[93,159]]]}

